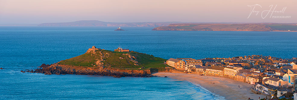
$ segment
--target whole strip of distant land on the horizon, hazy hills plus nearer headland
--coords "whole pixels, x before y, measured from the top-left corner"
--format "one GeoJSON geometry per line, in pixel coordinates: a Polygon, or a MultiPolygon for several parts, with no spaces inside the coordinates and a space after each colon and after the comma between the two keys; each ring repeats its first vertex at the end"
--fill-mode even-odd
{"type": "Polygon", "coordinates": [[[80,20],[62,23],[41,23],[41,27],[156,27],[153,30],[186,31],[297,31],[297,23],[236,23],[236,22],[104,22],[80,20]]]}

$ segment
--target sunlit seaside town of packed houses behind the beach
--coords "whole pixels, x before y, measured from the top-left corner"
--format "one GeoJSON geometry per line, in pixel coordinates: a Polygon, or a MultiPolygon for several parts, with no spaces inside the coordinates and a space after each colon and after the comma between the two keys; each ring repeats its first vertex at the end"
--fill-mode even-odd
{"type": "Polygon", "coordinates": [[[263,55],[170,58],[166,64],[181,73],[225,77],[253,84],[253,93],[266,95],[268,98],[297,100],[297,58],[282,59],[263,55]]]}

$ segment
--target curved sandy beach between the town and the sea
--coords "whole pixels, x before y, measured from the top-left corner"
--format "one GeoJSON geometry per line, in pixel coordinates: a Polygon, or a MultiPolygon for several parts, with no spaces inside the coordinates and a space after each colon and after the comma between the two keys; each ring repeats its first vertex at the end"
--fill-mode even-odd
{"type": "MultiPolygon", "coordinates": [[[[248,83],[235,81],[224,77],[213,77],[213,76],[200,76],[197,74],[186,74],[186,73],[154,73],[153,75],[177,80],[186,80],[194,85],[199,84],[210,92],[225,97],[227,100],[247,100],[248,98],[258,100],[265,98],[265,95],[257,95],[251,92],[250,88],[253,86],[248,83]],[[240,86],[240,88],[239,88],[240,86]]],[[[199,86],[198,85],[198,86],[199,86]]]]}

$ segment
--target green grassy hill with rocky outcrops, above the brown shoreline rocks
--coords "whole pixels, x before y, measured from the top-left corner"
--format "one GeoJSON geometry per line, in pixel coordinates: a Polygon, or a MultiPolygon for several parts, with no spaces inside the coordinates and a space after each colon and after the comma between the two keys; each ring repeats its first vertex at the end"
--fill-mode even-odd
{"type": "Polygon", "coordinates": [[[164,61],[166,61],[166,59],[139,52],[114,52],[99,49],[93,52],[87,52],[74,58],[60,61],[58,64],[86,67],[104,66],[136,69],[140,67],[166,67],[164,61]]]}

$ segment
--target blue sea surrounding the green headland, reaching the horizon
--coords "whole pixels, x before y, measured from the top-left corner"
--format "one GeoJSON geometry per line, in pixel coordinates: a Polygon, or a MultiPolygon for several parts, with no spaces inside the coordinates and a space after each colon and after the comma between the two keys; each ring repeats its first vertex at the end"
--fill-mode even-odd
{"type": "Polygon", "coordinates": [[[153,27],[0,27],[0,100],[221,100],[201,86],[164,77],[21,73],[84,54],[88,48],[132,51],[165,59],[245,55],[297,57],[297,32],[152,31],[153,27]]]}

